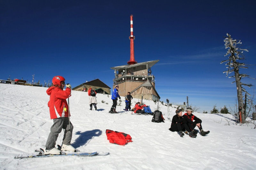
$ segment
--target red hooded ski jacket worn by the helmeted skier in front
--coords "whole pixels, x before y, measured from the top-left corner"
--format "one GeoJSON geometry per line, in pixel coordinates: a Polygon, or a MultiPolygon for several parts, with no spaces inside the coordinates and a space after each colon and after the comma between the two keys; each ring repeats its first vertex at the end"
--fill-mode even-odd
{"type": "Polygon", "coordinates": [[[52,86],[46,90],[46,93],[50,96],[48,107],[51,119],[68,117],[68,103],[66,99],[71,96],[71,89],[66,88],[66,90],[62,90],[59,87],[52,86]]]}

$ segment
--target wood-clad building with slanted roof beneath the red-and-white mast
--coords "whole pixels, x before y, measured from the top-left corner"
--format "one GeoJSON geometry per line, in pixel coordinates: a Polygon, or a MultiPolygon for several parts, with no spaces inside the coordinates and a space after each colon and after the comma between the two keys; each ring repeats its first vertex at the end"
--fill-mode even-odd
{"type": "Polygon", "coordinates": [[[143,99],[153,101],[157,100],[157,98],[160,99],[155,89],[155,76],[151,74],[151,67],[158,61],[111,67],[111,69],[115,70],[113,89],[118,84],[120,96],[126,96],[127,92],[130,92],[134,98],[140,98],[143,95],[143,99]]]}

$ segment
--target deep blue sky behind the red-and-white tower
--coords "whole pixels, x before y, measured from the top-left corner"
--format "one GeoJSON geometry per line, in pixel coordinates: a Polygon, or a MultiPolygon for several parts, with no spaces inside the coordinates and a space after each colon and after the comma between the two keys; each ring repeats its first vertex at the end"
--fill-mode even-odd
{"type": "MultiPolygon", "coordinates": [[[[223,74],[227,33],[240,39],[255,64],[254,0],[227,1],[0,1],[0,79],[52,80],[72,87],[100,79],[112,87],[110,67],[130,60],[130,15],[138,62],[151,70],[160,101],[186,102],[201,112],[236,103],[236,85],[223,74]]],[[[256,78],[255,67],[241,70],[256,78]]],[[[255,80],[243,79],[255,85],[255,80]]],[[[255,87],[248,89],[253,93],[255,87]]],[[[230,110],[230,109],[229,109],[230,110]]]]}

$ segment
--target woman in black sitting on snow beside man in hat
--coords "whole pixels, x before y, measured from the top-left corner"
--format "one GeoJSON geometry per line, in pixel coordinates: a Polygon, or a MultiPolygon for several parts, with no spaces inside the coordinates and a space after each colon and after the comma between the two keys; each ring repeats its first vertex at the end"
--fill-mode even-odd
{"type": "Polygon", "coordinates": [[[182,110],[179,109],[179,110],[176,110],[175,112],[176,112],[176,115],[172,117],[172,124],[169,130],[173,132],[178,131],[180,133],[180,137],[183,137],[184,133],[182,132],[182,130],[186,129],[186,131],[188,131],[189,136],[191,138],[196,138],[196,136],[188,128],[188,125],[186,124],[187,123],[186,119],[182,117],[182,110]]]}

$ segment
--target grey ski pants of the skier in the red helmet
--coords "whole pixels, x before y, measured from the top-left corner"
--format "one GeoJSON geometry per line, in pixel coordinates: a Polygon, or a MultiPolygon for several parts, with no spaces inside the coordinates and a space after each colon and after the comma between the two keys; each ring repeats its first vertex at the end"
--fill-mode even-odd
{"type": "Polygon", "coordinates": [[[63,137],[62,143],[65,145],[70,145],[72,132],[73,132],[73,125],[70,122],[70,129],[69,129],[68,117],[59,117],[59,118],[53,119],[53,125],[51,127],[51,132],[45,144],[45,147],[46,147],[45,150],[51,150],[52,148],[55,147],[56,140],[62,129],[64,129],[64,137],[63,137]]]}

